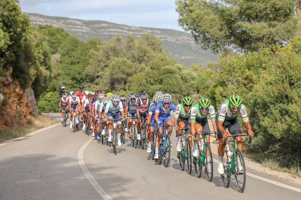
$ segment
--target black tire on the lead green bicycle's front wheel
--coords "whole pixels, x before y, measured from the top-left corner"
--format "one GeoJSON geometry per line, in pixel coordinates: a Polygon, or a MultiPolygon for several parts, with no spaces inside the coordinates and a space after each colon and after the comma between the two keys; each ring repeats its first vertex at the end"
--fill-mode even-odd
{"type": "Polygon", "coordinates": [[[234,161],[235,183],[236,183],[236,187],[238,189],[238,192],[244,192],[244,189],[245,189],[245,186],[246,186],[246,165],[245,165],[245,162],[244,162],[244,155],[240,151],[240,149],[235,149],[234,151],[236,152],[236,159],[237,159],[237,155],[238,155],[239,159],[240,159],[240,162],[241,162],[241,166],[243,167],[243,172],[238,172],[237,163],[236,163],[236,161],[234,161]],[[238,177],[242,178],[242,181],[239,181],[238,177]]]}

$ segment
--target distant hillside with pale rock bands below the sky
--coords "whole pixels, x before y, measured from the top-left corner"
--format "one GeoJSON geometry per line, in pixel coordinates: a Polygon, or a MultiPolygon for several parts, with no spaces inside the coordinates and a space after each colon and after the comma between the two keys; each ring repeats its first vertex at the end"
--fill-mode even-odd
{"type": "Polygon", "coordinates": [[[163,41],[163,48],[169,50],[170,57],[174,57],[178,62],[186,67],[192,63],[217,62],[218,56],[208,50],[199,49],[190,33],[176,31],[172,29],[156,29],[135,26],[114,24],[100,20],[76,20],[67,17],[49,17],[41,14],[25,13],[29,16],[33,26],[52,25],[63,28],[70,35],[78,37],[87,42],[92,38],[100,38],[101,41],[109,41],[116,34],[123,37],[133,34],[136,37],[144,32],[156,35],[163,41]]]}

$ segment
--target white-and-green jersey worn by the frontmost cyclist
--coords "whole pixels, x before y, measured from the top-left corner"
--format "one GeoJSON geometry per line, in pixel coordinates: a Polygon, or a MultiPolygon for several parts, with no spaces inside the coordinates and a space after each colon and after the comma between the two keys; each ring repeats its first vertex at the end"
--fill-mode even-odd
{"type": "Polygon", "coordinates": [[[229,100],[226,100],[222,102],[222,104],[219,106],[219,111],[217,112],[217,116],[219,116],[218,121],[224,122],[225,120],[234,120],[239,114],[241,114],[244,123],[249,121],[247,108],[244,104],[241,104],[239,111],[237,111],[237,113],[234,114],[229,105],[229,100]]]}

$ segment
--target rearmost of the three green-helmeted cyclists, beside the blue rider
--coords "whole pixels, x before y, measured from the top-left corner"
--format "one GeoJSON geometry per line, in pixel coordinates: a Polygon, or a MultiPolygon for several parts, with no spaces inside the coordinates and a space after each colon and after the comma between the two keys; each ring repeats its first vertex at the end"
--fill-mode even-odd
{"type": "MultiPolygon", "coordinates": [[[[192,107],[193,100],[190,96],[185,96],[182,100],[182,104],[177,105],[175,108],[175,119],[173,124],[175,125],[175,130],[178,131],[179,129],[183,128],[190,128],[190,109],[192,107]]],[[[177,142],[177,151],[181,151],[181,141],[182,141],[182,134],[183,130],[178,131],[178,142],[177,142]]],[[[190,141],[190,146],[192,147],[192,140],[191,140],[191,131],[188,130],[188,137],[190,141]]]]}

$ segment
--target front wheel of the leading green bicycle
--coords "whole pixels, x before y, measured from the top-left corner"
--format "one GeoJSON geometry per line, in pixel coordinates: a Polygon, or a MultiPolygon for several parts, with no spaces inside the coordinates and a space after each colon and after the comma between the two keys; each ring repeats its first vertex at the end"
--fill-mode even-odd
{"type": "Polygon", "coordinates": [[[244,156],[239,149],[236,149],[235,153],[236,153],[236,161],[234,160],[235,183],[238,192],[244,192],[244,188],[246,186],[246,166],[244,163],[244,156]]]}

